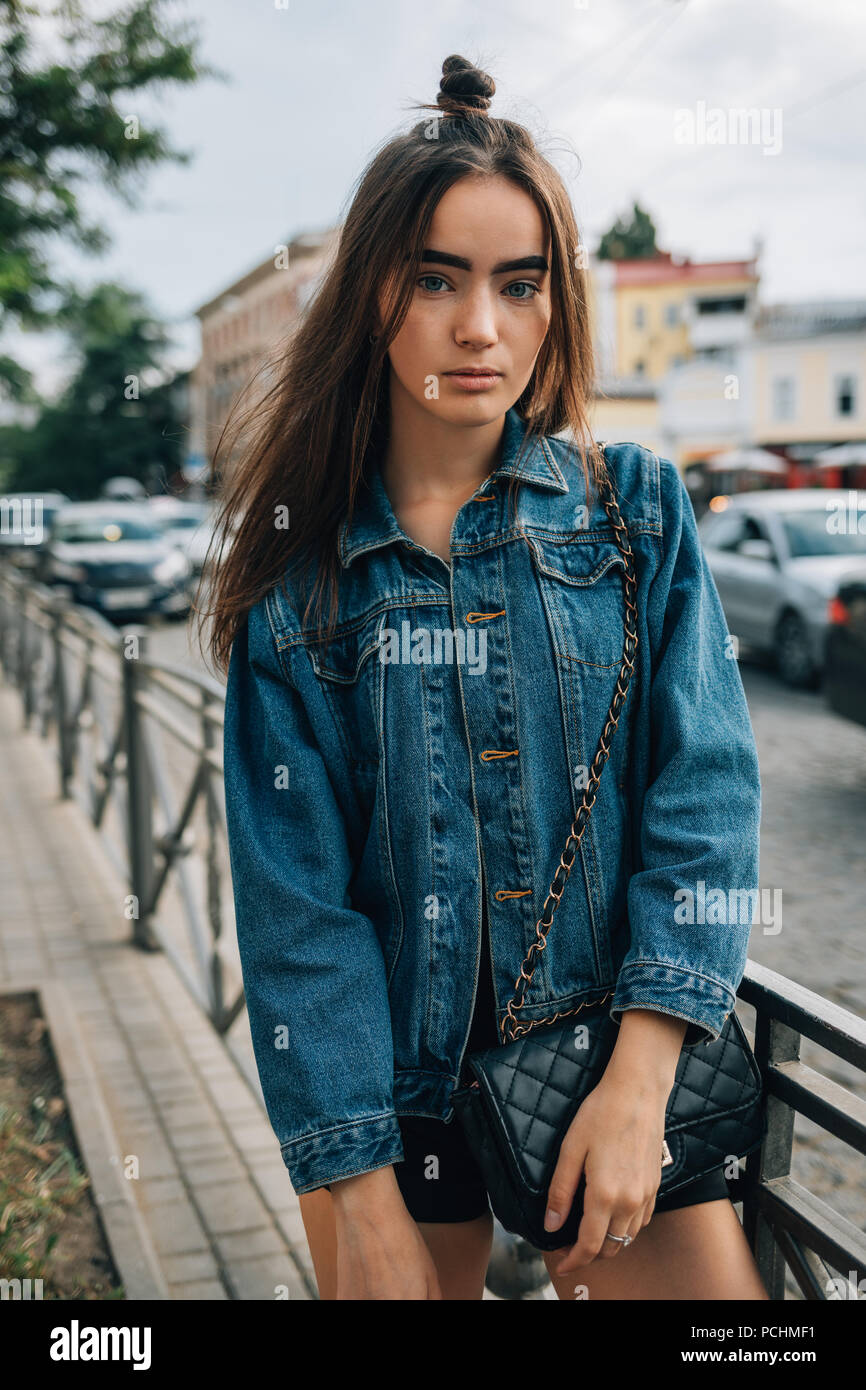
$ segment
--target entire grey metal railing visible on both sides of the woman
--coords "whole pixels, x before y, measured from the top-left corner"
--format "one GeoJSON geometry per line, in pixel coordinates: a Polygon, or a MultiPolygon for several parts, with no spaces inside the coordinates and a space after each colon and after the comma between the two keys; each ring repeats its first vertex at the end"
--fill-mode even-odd
{"type": "MultiPolygon", "coordinates": [[[[224,938],[224,906],[232,901],[217,733],[224,688],[149,660],[146,630],[121,632],[7,567],[0,567],[0,667],[21,694],[25,727],[56,741],[60,795],[79,801],[129,887],[132,942],[165,951],[225,1036],[243,1008],[243,988],[236,945],[229,952],[224,938]],[[186,751],[183,776],[177,758],[167,758],[165,735],[186,751]],[[121,847],[110,833],[111,809],[121,847]],[[172,880],[183,944],[158,916],[172,880]]],[[[767,1106],[763,1145],[741,1170],[742,1225],[767,1293],[785,1297],[790,1269],[806,1300],[862,1297],[866,1236],[796,1183],[791,1163],[796,1115],[866,1152],[866,1102],[799,1056],[801,1038],[810,1038],[863,1074],[866,1022],[752,960],[738,994],[755,1009],[752,1042],[767,1106]]]]}

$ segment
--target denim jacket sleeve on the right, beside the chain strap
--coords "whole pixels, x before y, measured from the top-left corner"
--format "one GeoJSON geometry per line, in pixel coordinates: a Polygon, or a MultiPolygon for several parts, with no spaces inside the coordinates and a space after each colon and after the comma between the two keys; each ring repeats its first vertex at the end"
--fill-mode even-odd
{"type": "Polygon", "coordinates": [[[660,463],[663,559],[646,603],[651,766],[610,1016],[657,1009],[712,1042],[758,901],[760,780],[740,669],[685,485],[660,463]]]}

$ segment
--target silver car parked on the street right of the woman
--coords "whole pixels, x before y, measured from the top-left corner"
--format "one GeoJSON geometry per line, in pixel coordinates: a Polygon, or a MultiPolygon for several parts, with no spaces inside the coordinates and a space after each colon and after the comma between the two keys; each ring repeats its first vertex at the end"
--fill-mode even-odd
{"type": "Polygon", "coordinates": [[[716,499],[698,523],[731,634],[770,653],[790,685],[817,684],[831,600],[866,578],[860,496],[858,512],[858,493],[841,488],[745,492],[716,499]]]}

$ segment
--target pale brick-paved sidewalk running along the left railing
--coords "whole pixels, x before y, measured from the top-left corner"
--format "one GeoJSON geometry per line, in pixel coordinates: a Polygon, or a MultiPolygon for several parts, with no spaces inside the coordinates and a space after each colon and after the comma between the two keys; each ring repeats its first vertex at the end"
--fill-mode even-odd
{"type": "Polygon", "coordinates": [[[21,731],[8,687],[0,759],[0,994],[63,988],[107,1161],[138,1159],[125,1188],[149,1237],[143,1297],[314,1298],[267,1118],[171,963],[129,945],[125,885],[78,803],[60,801],[53,744],[21,731]]]}

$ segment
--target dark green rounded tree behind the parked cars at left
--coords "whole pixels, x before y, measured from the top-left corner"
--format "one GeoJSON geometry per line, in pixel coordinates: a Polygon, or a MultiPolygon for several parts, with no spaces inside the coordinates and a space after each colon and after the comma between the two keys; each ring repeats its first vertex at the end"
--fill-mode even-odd
{"type": "Polygon", "coordinates": [[[90,498],[118,474],[156,486],[186,453],[185,377],[160,368],[170,346],[164,325],[139,293],[111,282],[72,292],[58,322],[78,359],[75,371],[32,430],[0,436],[6,491],[90,498]]]}

